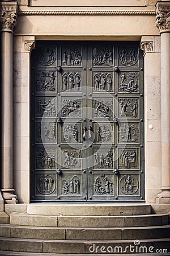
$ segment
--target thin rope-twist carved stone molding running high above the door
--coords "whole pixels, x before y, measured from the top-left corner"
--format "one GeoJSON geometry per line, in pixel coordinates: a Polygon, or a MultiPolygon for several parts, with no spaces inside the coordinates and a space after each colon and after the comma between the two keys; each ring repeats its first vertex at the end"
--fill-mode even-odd
{"type": "Polygon", "coordinates": [[[155,11],[20,11],[19,15],[155,15],[155,11]]]}

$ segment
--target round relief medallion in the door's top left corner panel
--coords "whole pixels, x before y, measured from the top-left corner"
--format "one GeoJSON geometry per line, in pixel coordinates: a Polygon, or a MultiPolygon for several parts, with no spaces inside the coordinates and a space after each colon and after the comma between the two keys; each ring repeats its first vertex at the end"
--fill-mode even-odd
{"type": "Polygon", "coordinates": [[[56,60],[56,52],[52,48],[42,48],[37,61],[43,66],[49,66],[56,60]]]}

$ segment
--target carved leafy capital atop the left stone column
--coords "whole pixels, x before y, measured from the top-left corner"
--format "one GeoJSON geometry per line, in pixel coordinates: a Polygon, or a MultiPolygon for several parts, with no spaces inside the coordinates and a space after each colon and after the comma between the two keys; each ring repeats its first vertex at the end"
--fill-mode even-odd
{"type": "Polygon", "coordinates": [[[0,2],[0,31],[13,32],[17,18],[17,2],[0,2]]]}

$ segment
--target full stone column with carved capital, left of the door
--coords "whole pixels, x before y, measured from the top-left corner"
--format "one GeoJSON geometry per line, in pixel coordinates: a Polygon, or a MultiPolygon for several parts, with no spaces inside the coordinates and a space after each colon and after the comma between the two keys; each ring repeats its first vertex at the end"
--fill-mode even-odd
{"type": "Polygon", "coordinates": [[[1,191],[7,204],[17,203],[12,184],[12,35],[18,4],[0,2],[1,32],[1,191]]]}

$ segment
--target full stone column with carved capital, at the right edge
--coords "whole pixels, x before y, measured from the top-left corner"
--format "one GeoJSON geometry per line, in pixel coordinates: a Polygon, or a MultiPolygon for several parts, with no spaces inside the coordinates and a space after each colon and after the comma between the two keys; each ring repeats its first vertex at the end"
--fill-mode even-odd
{"type": "Polygon", "coordinates": [[[161,35],[162,190],[158,204],[170,204],[170,2],[156,3],[156,26],[161,35]]]}

